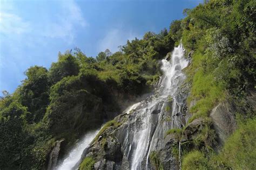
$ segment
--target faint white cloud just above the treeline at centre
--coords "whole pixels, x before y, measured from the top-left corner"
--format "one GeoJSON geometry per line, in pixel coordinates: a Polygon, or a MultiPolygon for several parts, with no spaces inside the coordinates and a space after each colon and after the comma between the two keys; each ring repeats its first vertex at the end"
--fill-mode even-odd
{"type": "Polygon", "coordinates": [[[117,52],[119,45],[125,45],[127,40],[142,38],[132,31],[125,31],[122,29],[113,29],[107,32],[106,36],[99,40],[98,51],[105,51],[110,49],[111,52],[117,52]]]}

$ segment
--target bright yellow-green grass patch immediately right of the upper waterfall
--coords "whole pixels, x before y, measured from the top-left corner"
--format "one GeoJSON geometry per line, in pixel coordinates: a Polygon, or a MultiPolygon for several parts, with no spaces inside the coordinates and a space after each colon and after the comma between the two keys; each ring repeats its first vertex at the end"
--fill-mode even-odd
{"type": "Polygon", "coordinates": [[[188,123],[198,117],[208,117],[213,107],[224,99],[224,89],[221,83],[214,80],[214,69],[206,70],[206,55],[196,53],[190,70],[187,71],[188,79],[192,82],[191,94],[188,103],[196,100],[196,105],[190,108],[193,116],[188,123]]]}

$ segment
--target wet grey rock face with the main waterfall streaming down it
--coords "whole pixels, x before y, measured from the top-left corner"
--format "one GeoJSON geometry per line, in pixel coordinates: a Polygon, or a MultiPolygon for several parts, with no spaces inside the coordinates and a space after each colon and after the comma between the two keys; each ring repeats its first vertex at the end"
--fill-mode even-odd
{"type": "Polygon", "coordinates": [[[95,169],[156,168],[158,165],[150,161],[151,153],[157,153],[157,162],[164,169],[178,169],[177,158],[172,154],[177,139],[165,136],[167,130],[187,124],[191,116],[186,104],[190,86],[184,83],[181,72],[188,63],[183,48],[175,48],[171,56],[171,61],[162,60],[164,75],[155,93],[114,118],[114,123],[104,127],[86,149],[84,157],[95,159],[95,169]]]}

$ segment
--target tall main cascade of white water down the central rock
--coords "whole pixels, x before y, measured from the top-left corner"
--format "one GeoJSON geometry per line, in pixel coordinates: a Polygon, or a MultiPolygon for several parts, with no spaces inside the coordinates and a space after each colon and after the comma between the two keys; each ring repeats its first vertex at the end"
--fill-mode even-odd
{"type": "Polygon", "coordinates": [[[166,131],[181,128],[187,121],[181,114],[183,101],[176,94],[185,79],[181,70],[188,64],[182,45],[174,48],[171,61],[161,62],[164,74],[156,93],[125,111],[130,118],[122,146],[130,169],[150,169],[150,153],[163,147],[166,131]],[[170,121],[164,121],[166,118],[170,121]]]}

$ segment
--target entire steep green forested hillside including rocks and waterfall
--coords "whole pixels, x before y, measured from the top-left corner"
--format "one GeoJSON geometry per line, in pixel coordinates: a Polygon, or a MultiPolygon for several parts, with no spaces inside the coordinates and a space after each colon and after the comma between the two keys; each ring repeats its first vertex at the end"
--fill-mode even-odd
{"type": "Polygon", "coordinates": [[[26,70],[0,100],[0,169],[54,169],[111,119],[76,167],[254,169],[256,2],[211,0],[184,15],[119,52],[76,48],[26,70]]]}

